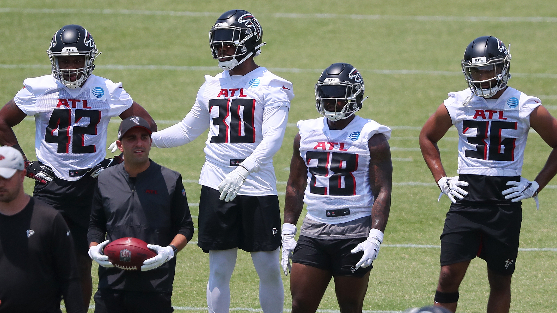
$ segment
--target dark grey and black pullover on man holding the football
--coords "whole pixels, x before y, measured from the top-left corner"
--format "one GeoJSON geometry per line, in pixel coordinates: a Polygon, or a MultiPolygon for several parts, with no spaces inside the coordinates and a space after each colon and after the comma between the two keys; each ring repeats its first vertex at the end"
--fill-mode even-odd
{"type": "MultiPolygon", "coordinates": [[[[193,222],[180,173],[151,161],[130,178],[124,163],[105,169],[93,195],[89,242],[139,238],[168,246],[177,234],[188,241],[193,222]]],[[[125,271],[99,266],[99,288],[129,291],[172,291],[176,258],[150,271],[125,271]]]]}

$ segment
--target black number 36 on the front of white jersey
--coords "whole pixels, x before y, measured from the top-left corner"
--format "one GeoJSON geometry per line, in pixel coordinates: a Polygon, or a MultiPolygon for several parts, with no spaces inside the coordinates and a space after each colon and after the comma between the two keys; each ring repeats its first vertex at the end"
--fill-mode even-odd
{"type": "Polygon", "coordinates": [[[469,128],[476,128],[475,137],[468,137],[468,142],[476,145],[476,150],[466,149],[464,155],[467,158],[493,160],[493,161],[514,161],[515,159],[515,140],[516,138],[501,138],[502,129],[516,129],[516,122],[505,121],[462,121],[462,134],[466,134],[469,128]],[[486,143],[487,130],[489,129],[489,146],[486,143]],[[488,153],[489,152],[489,153],[488,153]]]}

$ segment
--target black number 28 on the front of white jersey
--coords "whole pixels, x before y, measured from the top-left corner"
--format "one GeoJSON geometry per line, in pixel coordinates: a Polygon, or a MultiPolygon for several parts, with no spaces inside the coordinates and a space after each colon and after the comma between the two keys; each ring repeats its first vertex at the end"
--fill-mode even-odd
{"type": "Polygon", "coordinates": [[[310,192],[329,195],[355,195],[356,178],[352,175],[358,169],[358,154],[307,151],[306,162],[317,160],[317,167],[307,168],[311,173],[310,192]],[[329,175],[329,170],[333,172],[329,175]],[[317,176],[329,177],[329,187],[316,186],[317,176]]]}

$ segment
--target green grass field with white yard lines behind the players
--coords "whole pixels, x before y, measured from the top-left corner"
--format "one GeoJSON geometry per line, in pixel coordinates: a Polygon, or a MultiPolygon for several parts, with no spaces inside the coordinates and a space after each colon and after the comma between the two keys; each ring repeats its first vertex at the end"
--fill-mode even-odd
{"type": "MultiPolygon", "coordinates": [[[[53,33],[63,25],[77,23],[92,33],[97,48],[103,52],[95,62],[95,74],[123,82],[136,102],[155,120],[163,121],[158,123],[159,129],[166,128],[188,113],[204,81],[203,75],[219,72],[209,51],[208,30],[219,14],[233,8],[247,9],[261,22],[267,45],[256,58],[258,65],[294,83],[296,97],[291,104],[291,125],[300,119],[319,116],[315,110],[314,84],[321,70],[334,62],[349,62],[361,71],[370,99],[364,102],[359,115],[394,126],[389,142],[393,182],[397,183],[393,186],[385,242],[374,262],[364,310],[403,311],[431,304],[439,273],[439,249],[393,246],[437,246],[449,205],[447,197],[436,202],[439,190],[433,185],[418,149],[419,128],[449,91],[466,88],[460,60],[468,42],[483,35],[497,36],[506,44],[511,43],[513,78],[509,85],[540,96],[550,112],[557,114],[557,3],[544,0],[2,0],[0,101],[10,100],[26,77],[50,73],[46,50],[53,33]],[[404,184],[409,182],[430,185],[404,184]]],[[[115,139],[117,126],[110,124],[109,143],[115,139]]],[[[22,121],[14,131],[27,156],[34,158],[33,121],[22,121]]],[[[274,158],[278,188],[282,192],[281,206],[296,132],[293,126],[287,128],[282,148],[274,158]]],[[[207,138],[201,137],[179,148],[154,149],[151,157],[178,170],[185,180],[197,180],[207,138]]],[[[446,137],[439,142],[439,148],[447,173],[456,175],[456,131],[452,129],[446,137]]],[[[531,133],[523,176],[534,179],[550,150],[537,134],[531,133]]],[[[31,179],[26,180],[28,193],[32,193],[32,185],[31,179]]],[[[554,188],[544,189],[540,194],[540,211],[536,212],[533,200],[524,202],[520,247],[553,250],[519,252],[511,312],[557,311],[554,265],[557,183],[550,185],[554,188]]],[[[189,202],[193,203],[192,214],[197,216],[198,207],[194,204],[199,202],[200,187],[188,182],[185,188],[189,202]]],[[[197,227],[197,218],[194,223],[197,227]]],[[[197,235],[193,240],[196,238],[197,235]]],[[[207,311],[201,308],[206,307],[208,272],[208,256],[195,244],[188,244],[178,254],[173,293],[177,312],[207,311]]],[[[283,280],[285,308],[290,309],[290,277],[283,280]]],[[[247,252],[238,253],[231,290],[232,308],[260,309],[258,278],[247,252]]],[[[485,262],[473,260],[460,288],[458,311],[485,311],[488,291],[485,262]]],[[[332,284],[320,309],[338,310],[332,284]]]]}

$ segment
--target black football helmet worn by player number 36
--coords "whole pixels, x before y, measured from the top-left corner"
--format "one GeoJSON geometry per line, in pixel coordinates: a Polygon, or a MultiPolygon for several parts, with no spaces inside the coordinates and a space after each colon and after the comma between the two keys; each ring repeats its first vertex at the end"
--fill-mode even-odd
{"type": "Polygon", "coordinates": [[[510,62],[509,50],[498,38],[476,38],[466,47],[462,60],[462,71],[468,87],[477,96],[494,96],[497,91],[507,86],[511,78],[510,62]]]}

